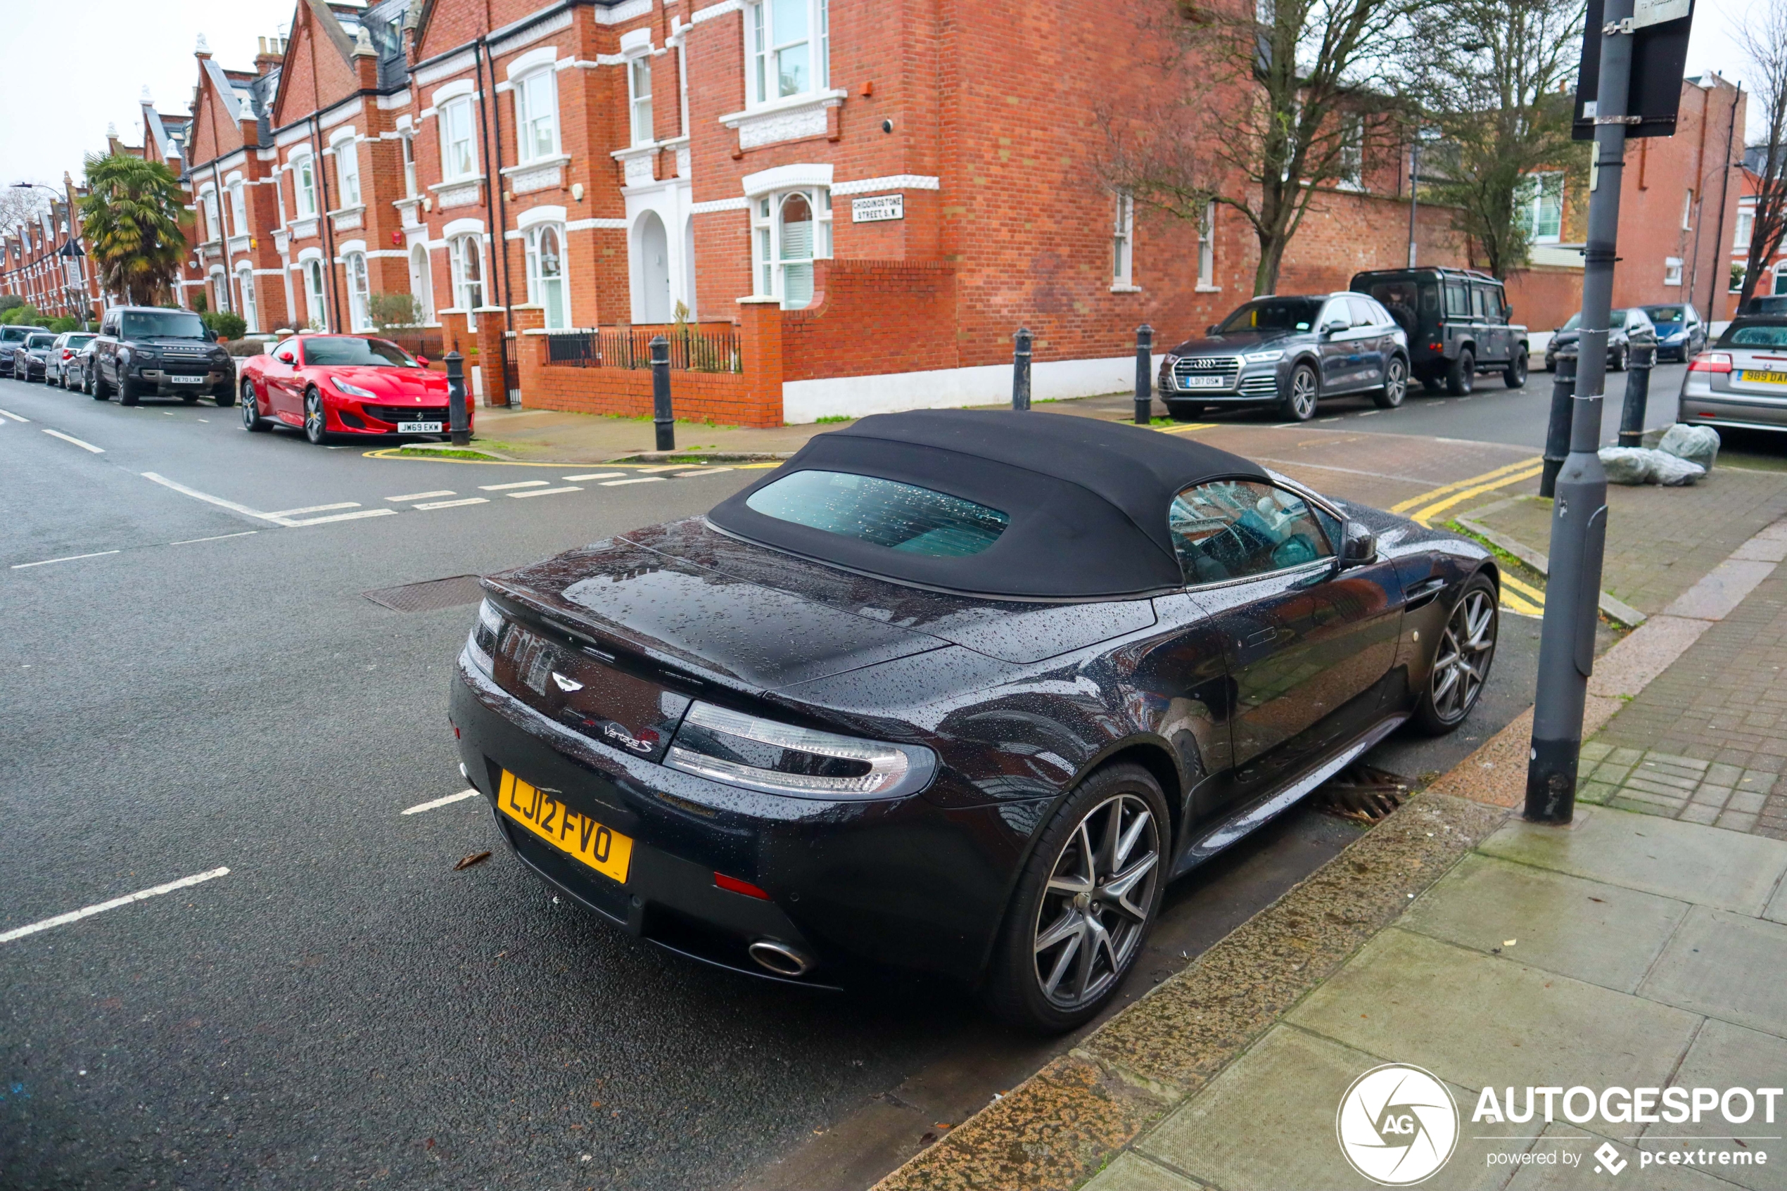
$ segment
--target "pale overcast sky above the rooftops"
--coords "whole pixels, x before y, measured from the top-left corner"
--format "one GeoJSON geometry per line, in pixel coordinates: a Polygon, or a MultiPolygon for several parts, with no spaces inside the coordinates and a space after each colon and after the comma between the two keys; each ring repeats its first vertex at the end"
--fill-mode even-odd
{"type": "MultiPolygon", "coordinates": [[[[252,70],[256,37],[289,29],[297,0],[0,0],[0,182],[57,186],[66,170],[105,148],[105,125],[136,145],[147,86],[163,112],[186,112],[198,77],[198,34],[213,57],[252,70]]],[[[545,4],[545,0],[541,0],[545,4]]],[[[1732,27],[1755,5],[1787,0],[1699,0],[1687,73],[1748,70],[1732,27]]]]}

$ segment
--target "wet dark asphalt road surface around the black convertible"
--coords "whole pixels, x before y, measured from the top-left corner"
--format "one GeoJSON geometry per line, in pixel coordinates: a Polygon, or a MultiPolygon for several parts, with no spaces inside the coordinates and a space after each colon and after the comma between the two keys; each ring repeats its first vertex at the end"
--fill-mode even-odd
{"type": "MultiPolygon", "coordinates": [[[[231,870],[0,943],[0,1186],[865,1186],[920,1116],[961,1120],[1065,1045],[924,982],[811,996],[697,968],[554,904],[481,802],[402,814],[465,787],[445,698],[470,607],[361,593],[699,512],[756,473],[515,498],[486,486],[600,470],[366,459],[209,402],[13,380],[0,411],[0,932],[231,870]],[[356,520],[286,527],[143,473],[356,520]],[[484,504],[415,507],[447,500],[484,504]],[[877,1116],[895,1102],[920,1112],[877,1116]]],[[[1471,730],[1383,755],[1444,768],[1524,705],[1523,634],[1471,730]]],[[[1181,882],[1126,995],[1356,830],[1299,809],[1181,882]]]]}

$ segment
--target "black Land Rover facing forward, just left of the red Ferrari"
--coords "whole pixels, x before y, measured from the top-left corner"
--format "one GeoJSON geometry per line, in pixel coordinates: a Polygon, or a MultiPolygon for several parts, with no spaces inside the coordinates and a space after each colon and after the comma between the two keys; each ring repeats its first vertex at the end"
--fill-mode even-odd
{"type": "Polygon", "coordinates": [[[125,405],[143,396],[179,396],[188,405],[211,395],[236,404],[236,364],[191,311],[120,305],[105,311],[93,339],[91,393],[125,405]]]}

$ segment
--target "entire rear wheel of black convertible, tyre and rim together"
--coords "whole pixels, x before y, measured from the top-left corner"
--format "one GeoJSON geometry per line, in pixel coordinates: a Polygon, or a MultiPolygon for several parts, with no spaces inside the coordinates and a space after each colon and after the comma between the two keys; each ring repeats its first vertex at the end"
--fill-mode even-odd
{"type": "Polygon", "coordinates": [[[1113,764],[1081,782],[1019,873],[985,989],[988,1009],[1038,1034],[1097,1014],[1147,943],[1170,845],[1172,820],[1153,773],[1113,764]],[[1119,854],[1124,836],[1129,846],[1119,854]]]}

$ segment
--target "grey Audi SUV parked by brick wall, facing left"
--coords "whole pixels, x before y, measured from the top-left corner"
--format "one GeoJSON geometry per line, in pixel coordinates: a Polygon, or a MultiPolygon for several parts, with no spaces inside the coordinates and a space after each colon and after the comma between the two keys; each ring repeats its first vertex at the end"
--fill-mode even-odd
{"type": "Polygon", "coordinates": [[[1292,421],[1342,393],[1383,409],[1408,395],[1408,341],[1388,311],[1360,295],[1254,298],[1160,362],[1160,400],[1174,418],[1206,405],[1276,404],[1292,421]]]}

